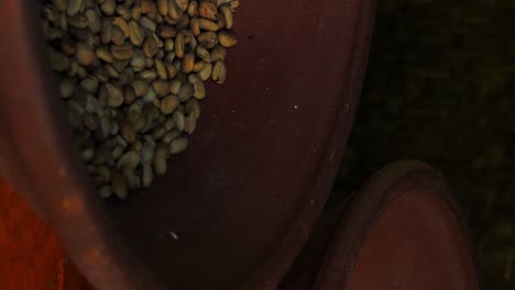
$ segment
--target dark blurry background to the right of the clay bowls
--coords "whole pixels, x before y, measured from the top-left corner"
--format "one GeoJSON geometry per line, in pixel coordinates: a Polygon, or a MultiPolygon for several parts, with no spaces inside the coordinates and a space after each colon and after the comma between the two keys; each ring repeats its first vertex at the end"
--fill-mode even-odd
{"type": "Polygon", "coordinates": [[[368,76],[337,187],[387,163],[439,169],[489,289],[515,289],[515,1],[380,0],[368,76]]]}

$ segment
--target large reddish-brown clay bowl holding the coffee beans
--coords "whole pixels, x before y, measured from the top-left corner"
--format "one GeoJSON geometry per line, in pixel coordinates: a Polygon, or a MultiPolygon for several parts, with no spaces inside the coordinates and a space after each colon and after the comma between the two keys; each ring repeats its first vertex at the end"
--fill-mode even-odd
{"type": "Polygon", "coordinates": [[[243,1],[228,81],[190,148],[123,204],[70,144],[33,1],[0,3],[0,170],[98,289],[274,289],[331,189],[354,115],[371,0],[243,1]]]}

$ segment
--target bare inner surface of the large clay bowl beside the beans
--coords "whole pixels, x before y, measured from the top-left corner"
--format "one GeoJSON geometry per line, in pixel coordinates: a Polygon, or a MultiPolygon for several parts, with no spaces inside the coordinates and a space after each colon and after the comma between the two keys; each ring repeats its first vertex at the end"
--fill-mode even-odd
{"type": "Polygon", "coordinates": [[[227,82],[208,85],[190,147],[147,192],[108,205],[163,281],[228,289],[260,280],[274,250],[288,256],[306,241],[350,130],[362,2],[241,3],[227,82]]]}

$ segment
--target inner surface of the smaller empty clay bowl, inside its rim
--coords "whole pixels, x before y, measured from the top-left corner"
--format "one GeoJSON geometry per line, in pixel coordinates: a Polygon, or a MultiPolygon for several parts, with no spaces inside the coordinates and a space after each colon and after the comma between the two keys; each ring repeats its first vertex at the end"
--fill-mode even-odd
{"type": "Polygon", "coordinates": [[[395,199],[366,237],[349,290],[475,290],[468,244],[447,204],[424,189],[395,199]]]}

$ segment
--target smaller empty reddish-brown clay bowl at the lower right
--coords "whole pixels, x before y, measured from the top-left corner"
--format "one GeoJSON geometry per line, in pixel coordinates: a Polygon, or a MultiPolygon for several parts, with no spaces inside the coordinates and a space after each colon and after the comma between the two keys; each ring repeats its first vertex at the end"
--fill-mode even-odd
{"type": "Polygon", "coordinates": [[[441,175],[398,161],[324,214],[280,289],[476,290],[471,245],[441,175]]]}

